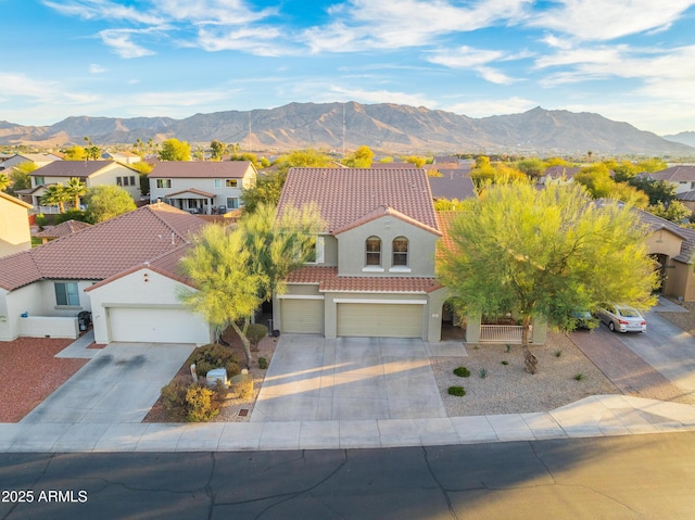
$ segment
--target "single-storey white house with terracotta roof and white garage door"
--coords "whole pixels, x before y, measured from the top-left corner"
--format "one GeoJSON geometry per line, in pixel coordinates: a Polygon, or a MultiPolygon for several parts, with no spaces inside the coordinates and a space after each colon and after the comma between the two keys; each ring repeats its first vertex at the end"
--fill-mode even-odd
{"type": "Polygon", "coordinates": [[[178,301],[177,264],[205,221],[154,204],[0,258],[0,341],[75,338],[90,312],[98,343],[205,344],[211,329],[178,301]]]}

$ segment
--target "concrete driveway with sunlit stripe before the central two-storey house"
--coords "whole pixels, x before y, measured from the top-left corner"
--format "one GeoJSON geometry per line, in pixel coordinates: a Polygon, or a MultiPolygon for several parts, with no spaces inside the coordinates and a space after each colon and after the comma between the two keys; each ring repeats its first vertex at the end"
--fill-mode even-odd
{"type": "Polygon", "coordinates": [[[251,422],[446,417],[421,340],[283,334],[251,422]]]}

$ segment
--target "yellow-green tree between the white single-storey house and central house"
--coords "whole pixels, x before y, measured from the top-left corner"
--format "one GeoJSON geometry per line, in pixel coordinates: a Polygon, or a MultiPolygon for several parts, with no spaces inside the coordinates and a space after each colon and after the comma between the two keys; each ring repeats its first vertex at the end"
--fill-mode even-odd
{"type": "Polygon", "coordinates": [[[217,333],[231,327],[250,367],[247,333],[255,310],[285,291],[285,280],[309,257],[323,227],[312,206],[278,216],[275,207],[265,205],[244,215],[230,231],[206,226],[180,264],[195,290],[181,290],[179,299],[217,333]]]}

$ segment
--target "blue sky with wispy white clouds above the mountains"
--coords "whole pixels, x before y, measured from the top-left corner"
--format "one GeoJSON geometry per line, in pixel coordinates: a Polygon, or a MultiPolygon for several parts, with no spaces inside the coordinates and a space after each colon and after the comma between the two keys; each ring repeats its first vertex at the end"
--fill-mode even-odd
{"type": "Polygon", "coordinates": [[[296,102],[695,130],[695,0],[0,0],[0,121],[296,102]]]}

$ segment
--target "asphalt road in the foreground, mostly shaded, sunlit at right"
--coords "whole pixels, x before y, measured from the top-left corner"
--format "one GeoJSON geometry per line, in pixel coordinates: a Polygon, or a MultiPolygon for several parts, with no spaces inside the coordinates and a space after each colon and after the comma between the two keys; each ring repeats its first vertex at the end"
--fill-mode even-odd
{"type": "Polygon", "coordinates": [[[0,454],[0,484],[8,520],[685,519],[695,518],[695,432],[393,449],[0,454]]]}

